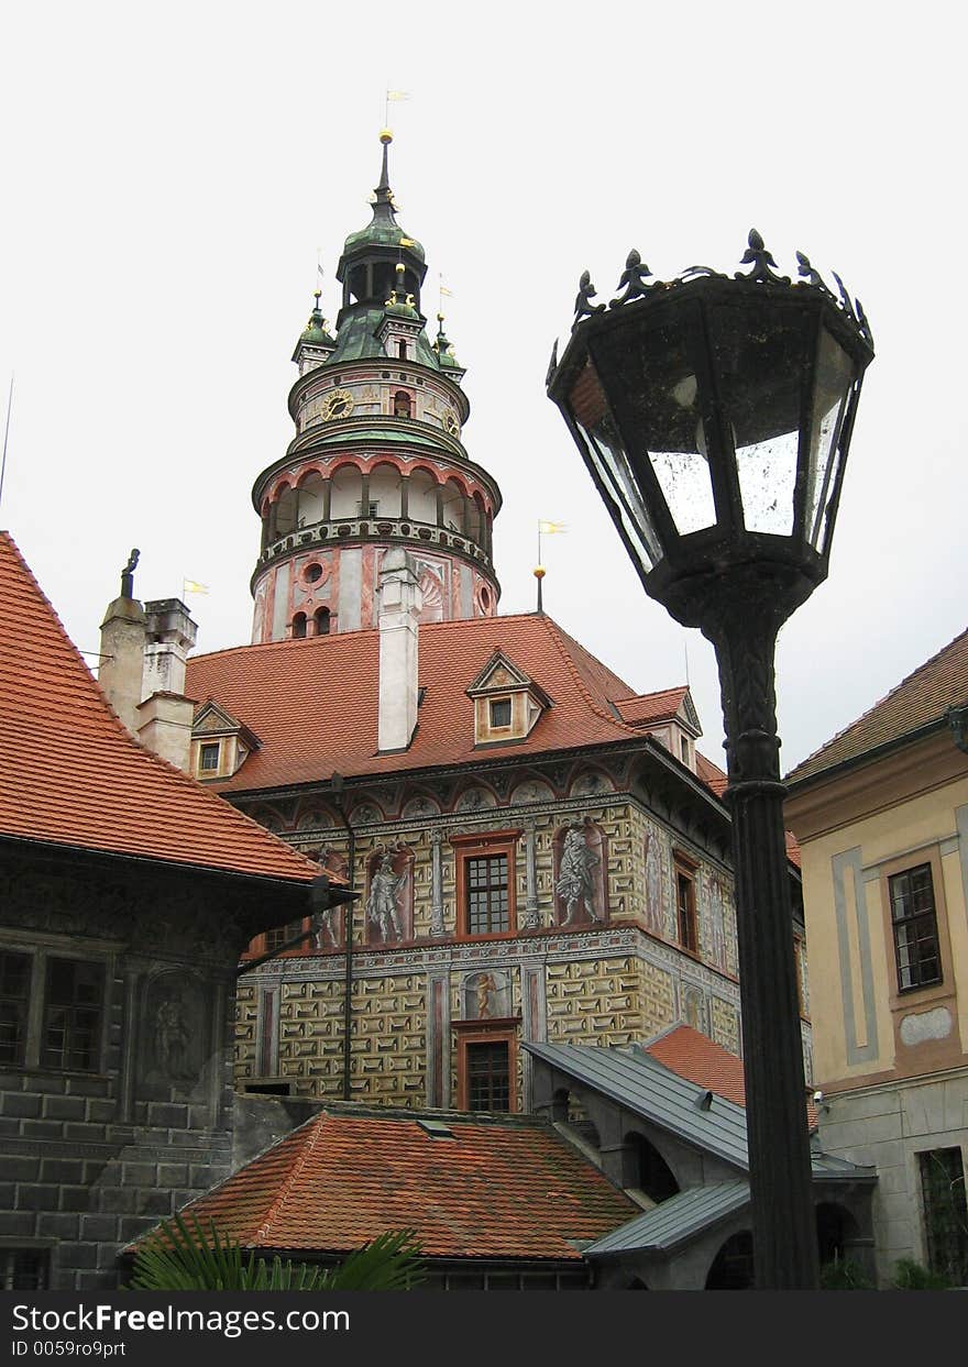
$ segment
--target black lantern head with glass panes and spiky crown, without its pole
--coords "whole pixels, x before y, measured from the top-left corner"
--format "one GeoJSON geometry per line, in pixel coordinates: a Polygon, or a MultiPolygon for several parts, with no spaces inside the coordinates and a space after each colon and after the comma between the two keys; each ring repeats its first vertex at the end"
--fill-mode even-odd
{"type": "Polygon", "coordinates": [[[547,375],[647,593],[707,627],[737,593],[785,619],[826,578],[871,328],[753,228],[741,269],[654,276],[632,250],[607,303],[585,271],[547,375]]]}

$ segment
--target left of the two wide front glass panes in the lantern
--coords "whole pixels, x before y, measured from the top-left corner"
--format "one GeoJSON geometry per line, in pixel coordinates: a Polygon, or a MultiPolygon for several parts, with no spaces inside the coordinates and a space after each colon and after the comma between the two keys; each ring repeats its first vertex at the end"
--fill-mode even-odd
{"type": "MultiPolygon", "coordinates": [[[[618,370],[629,377],[628,431],[648,451],[680,536],[716,524],[699,381],[685,324],[680,317],[640,334],[618,370]]],[[[625,339],[622,347],[628,349],[625,339]]]]}

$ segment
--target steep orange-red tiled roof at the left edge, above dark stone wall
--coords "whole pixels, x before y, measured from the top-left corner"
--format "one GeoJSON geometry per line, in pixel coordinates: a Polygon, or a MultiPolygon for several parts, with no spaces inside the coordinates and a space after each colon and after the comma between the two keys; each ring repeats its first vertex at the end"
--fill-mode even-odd
{"type": "Polygon", "coordinates": [[[308,883],[320,871],[131,740],[0,532],[0,835],[308,883]]]}

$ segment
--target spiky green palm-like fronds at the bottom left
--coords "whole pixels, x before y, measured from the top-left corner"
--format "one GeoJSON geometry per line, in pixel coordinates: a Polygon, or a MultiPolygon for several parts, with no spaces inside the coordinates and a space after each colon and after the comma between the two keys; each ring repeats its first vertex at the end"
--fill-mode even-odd
{"type": "Polygon", "coordinates": [[[127,1290],[410,1290],[424,1278],[412,1229],[380,1234],[339,1267],[243,1255],[215,1225],[163,1221],[141,1244],[127,1290]]]}

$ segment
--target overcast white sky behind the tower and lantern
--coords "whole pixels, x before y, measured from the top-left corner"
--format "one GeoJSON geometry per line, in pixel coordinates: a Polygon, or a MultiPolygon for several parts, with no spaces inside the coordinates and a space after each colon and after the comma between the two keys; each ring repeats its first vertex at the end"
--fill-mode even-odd
{"type": "Polygon", "coordinates": [[[94,651],[139,597],[245,644],[256,474],[291,436],[290,355],[369,221],[391,107],[401,224],[454,291],[465,443],[498,478],[502,610],[546,608],[640,690],[682,682],[722,759],[711,648],[643,593],[544,395],[578,275],[608,297],[738,262],[833,265],[874,327],[831,560],[779,649],[782,763],[965,627],[965,11],[894,4],[19,4],[0,36],[0,525],[94,651]]]}

